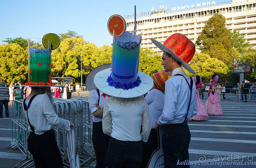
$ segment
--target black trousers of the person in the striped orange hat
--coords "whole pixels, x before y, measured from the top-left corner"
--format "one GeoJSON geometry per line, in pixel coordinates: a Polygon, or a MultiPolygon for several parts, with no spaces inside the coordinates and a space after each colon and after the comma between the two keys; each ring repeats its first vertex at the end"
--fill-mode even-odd
{"type": "Polygon", "coordinates": [[[158,148],[158,135],[156,129],[151,129],[148,142],[142,142],[142,162],[140,168],[146,168],[153,152],[158,148]]]}

